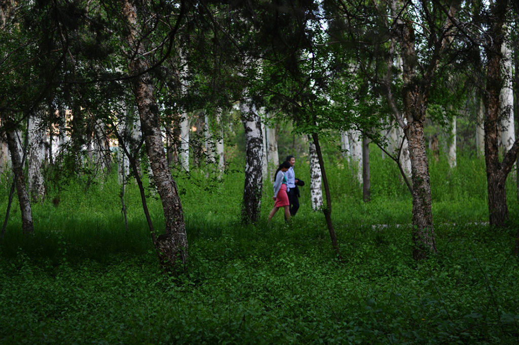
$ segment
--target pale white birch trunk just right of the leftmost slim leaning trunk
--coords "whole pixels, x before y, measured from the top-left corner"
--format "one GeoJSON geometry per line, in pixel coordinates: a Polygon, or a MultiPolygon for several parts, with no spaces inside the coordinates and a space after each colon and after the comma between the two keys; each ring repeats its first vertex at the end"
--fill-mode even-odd
{"type": "Polygon", "coordinates": [[[27,155],[29,193],[33,202],[38,202],[45,196],[45,181],[42,167],[45,160],[45,135],[42,118],[38,115],[29,117],[29,148],[27,155]]]}

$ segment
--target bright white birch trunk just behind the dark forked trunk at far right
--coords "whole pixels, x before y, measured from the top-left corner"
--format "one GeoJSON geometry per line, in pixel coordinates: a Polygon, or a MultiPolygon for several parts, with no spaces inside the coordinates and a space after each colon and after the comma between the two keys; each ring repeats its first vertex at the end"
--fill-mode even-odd
{"type": "MultiPolygon", "coordinates": [[[[508,36],[508,35],[507,35],[508,36]]],[[[507,46],[506,40],[503,41],[501,52],[503,54],[503,88],[501,89],[500,111],[501,111],[501,144],[504,151],[512,148],[515,141],[514,128],[514,94],[512,89],[512,51],[507,46]]]]}

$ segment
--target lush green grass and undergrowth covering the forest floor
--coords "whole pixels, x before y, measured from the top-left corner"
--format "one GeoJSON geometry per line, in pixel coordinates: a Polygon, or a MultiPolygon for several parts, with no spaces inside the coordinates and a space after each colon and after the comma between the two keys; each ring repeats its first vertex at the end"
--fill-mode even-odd
{"type": "MultiPolygon", "coordinates": [[[[302,161],[296,174],[309,181],[302,161]]],[[[307,186],[290,224],[278,212],[267,225],[266,182],[262,221],[244,227],[242,173],[210,192],[205,172],[179,177],[190,262],[177,278],[160,272],[134,185],[127,231],[115,177],[89,189],[70,181],[49,192],[59,205],[51,197],[34,205],[34,236],[21,234],[13,205],[0,247],[0,343],[515,344],[515,185],[507,185],[512,222],[493,229],[483,223],[484,163],[461,158],[448,173],[441,163],[431,164],[439,253],[422,262],[412,260],[408,192],[375,154],[370,203],[347,164],[327,171],[345,263],[307,186]]],[[[149,203],[159,228],[160,203],[149,203]]]]}

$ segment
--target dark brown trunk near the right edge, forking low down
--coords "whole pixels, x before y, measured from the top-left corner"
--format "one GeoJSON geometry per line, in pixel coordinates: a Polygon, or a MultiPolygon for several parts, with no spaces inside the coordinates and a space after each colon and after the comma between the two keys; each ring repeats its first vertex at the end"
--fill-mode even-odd
{"type": "Polygon", "coordinates": [[[485,103],[485,163],[487,174],[488,212],[490,225],[502,226],[508,220],[506,179],[517,158],[517,141],[499,162],[499,119],[500,94],[503,82],[501,73],[503,45],[503,24],[506,17],[507,2],[490,4],[491,23],[487,35],[490,44],[485,47],[487,56],[487,75],[484,92],[485,103]]]}

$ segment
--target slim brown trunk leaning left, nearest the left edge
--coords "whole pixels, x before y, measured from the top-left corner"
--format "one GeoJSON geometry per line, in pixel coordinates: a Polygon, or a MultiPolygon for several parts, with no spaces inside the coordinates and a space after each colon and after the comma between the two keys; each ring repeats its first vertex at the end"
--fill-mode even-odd
{"type": "Polygon", "coordinates": [[[16,191],[18,193],[18,201],[20,204],[20,211],[22,215],[22,231],[24,234],[34,233],[33,218],[31,202],[29,200],[29,193],[25,186],[25,176],[23,174],[23,162],[20,157],[20,150],[18,148],[18,138],[16,130],[7,128],[6,131],[7,146],[11,154],[12,171],[16,180],[16,191]]]}

